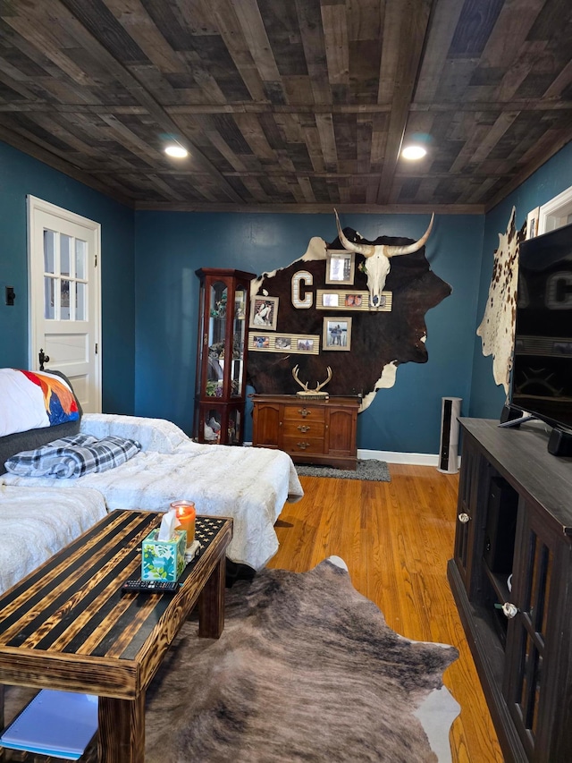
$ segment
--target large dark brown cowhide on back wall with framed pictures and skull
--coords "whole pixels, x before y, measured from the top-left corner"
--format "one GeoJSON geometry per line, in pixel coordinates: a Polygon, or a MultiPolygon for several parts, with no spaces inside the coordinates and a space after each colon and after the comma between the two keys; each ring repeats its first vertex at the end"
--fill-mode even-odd
{"type": "Polygon", "coordinates": [[[427,234],[417,249],[411,239],[367,242],[338,229],[331,243],[312,238],[303,257],[252,282],[248,379],[258,394],[295,394],[331,374],[327,392],[360,395],[364,411],[378,389],[395,384],[401,363],[427,361],[425,312],[451,287],[425,259],[427,234]],[[346,248],[356,243],[357,251],[346,248]],[[388,258],[372,245],[417,250],[389,250],[388,258]],[[381,289],[373,284],[380,275],[381,289]]]}

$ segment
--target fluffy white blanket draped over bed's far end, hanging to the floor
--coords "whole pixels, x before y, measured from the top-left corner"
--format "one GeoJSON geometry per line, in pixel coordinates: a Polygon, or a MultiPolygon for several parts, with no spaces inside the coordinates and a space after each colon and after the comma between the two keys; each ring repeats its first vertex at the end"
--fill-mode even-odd
{"type": "Polygon", "coordinates": [[[174,500],[194,501],[198,514],[232,517],[234,535],[227,555],[257,570],[278,550],[273,525],[284,503],[304,495],[294,464],[282,451],[198,445],[168,421],[129,416],[86,414],[81,430],[94,437],[137,439],[143,451],[115,469],[79,479],[4,474],[0,480],[74,490],[92,487],[105,497],[108,510],[167,511],[174,500]]]}

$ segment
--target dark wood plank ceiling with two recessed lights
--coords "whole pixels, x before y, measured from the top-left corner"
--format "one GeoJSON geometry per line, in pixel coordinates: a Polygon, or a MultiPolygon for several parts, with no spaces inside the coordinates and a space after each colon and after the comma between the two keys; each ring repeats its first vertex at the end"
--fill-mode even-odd
{"type": "Polygon", "coordinates": [[[570,0],[0,0],[0,140],[132,208],[482,213],[572,138],[571,40],[570,0]]]}

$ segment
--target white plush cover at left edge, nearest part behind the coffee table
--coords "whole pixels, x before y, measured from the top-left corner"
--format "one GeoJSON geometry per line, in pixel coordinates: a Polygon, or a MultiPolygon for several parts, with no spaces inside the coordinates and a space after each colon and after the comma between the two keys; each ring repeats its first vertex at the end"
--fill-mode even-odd
{"type": "MultiPolygon", "coordinates": [[[[0,478],[1,479],[1,478],[0,478]]],[[[0,485],[0,593],[106,514],[97,490],[0,485]]]]}

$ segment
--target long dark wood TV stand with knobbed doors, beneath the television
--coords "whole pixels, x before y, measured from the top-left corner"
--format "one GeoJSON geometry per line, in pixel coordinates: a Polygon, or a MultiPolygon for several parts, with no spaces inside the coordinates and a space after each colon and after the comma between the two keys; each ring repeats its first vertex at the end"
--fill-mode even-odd
{"type": "Polygon", "coordinates": [[[505,758],[564,763],[572,760],[572,458],[547,452],[542,424],[460,423],[450,587],[505,758]]]}

